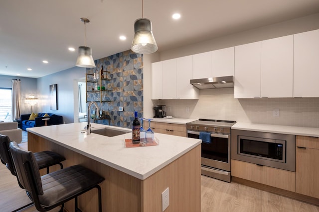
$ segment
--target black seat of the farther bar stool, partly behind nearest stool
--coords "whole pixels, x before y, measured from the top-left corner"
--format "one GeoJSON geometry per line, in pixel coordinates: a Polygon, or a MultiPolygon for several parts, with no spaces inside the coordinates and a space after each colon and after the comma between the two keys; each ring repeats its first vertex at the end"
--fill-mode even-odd
{"type": "Polygon", "coordinates": [[[38,163],[39,169],[59,164],[60,162],[65,160],[64,157],[53,151],[34,152],[34,157],[36,162],[38,163]]]}

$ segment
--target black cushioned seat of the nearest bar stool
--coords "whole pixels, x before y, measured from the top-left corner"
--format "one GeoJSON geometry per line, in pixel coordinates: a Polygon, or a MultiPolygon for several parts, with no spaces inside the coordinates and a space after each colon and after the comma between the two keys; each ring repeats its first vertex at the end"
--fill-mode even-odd
{"type": "Polygon", "coordinates": [[[41,177],[43,195],[39,195],[39,201],[48,208],[78,196],[83,190],[91,190],[103,180],[103,177],[80,165],[51,172],[41,177]]]}

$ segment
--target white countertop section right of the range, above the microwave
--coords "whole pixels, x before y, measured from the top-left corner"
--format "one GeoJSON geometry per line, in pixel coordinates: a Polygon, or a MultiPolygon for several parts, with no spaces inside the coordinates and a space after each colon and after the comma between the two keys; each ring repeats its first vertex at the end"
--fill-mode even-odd
{"type": "Polygon", "coordinates": [[[280,133],[296,136],[319,137],[319,128],[294,127],[286,125],[266,125],[237,122],[231,127],[232,130],[249,130],[258,132],[280,133]]]}

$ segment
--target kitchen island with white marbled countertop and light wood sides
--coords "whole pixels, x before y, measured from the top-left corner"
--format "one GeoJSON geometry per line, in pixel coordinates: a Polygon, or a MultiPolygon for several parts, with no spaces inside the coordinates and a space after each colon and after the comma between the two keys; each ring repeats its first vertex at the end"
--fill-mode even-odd
{"type": "MultiPolygon", "coordinates": [[[[126,148],[124,140],[131,138],[130,129],[92,123],[94,129],[127,132],[106,137],[86,135],[85,126],[74,123],[29,128],[28,149],[55,151],[66,158],[64,167],[81,164],[103,176],[104,212],[161,212],[161,193],[167,187],[169,206],[165,212],[200,211],[201,140],[156,133],[159,145],[126,148]]],[[[58,166],[50,171],[54,169],[58,166]]],[[[79,207],[97,211],[97,191],[81,195],[79,207]]],[[[73,200],[65,208],[72,212],[73,200]]]]}

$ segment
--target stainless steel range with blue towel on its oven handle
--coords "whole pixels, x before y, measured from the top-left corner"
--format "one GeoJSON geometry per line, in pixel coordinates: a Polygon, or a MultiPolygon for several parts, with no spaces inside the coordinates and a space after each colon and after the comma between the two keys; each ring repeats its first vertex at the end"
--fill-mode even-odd
{"type": "Polygon", "coordinates": [[[188,138],[199,139],[201,132],[210,134],[209,141],[201,143],[202,175],[230,182],[230,127],[235,123],[235,121],[199,119],[186,124],[188,138]]]}

